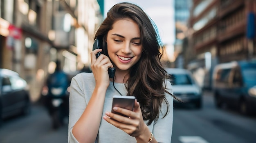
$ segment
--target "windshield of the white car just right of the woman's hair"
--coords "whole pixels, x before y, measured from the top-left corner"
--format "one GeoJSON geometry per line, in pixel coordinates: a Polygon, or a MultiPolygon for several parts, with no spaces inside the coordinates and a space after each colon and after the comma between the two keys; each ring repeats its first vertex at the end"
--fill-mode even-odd
{"type": "Polygon", "coordinates": [[[172,85],[192,85],[192,80],[187,74],[171,74],[172,85]]]}

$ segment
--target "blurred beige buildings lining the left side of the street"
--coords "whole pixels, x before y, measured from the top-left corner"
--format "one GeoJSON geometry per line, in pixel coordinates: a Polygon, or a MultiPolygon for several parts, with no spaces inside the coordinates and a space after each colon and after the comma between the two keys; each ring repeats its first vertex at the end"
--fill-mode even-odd
{"type": "Polygon", "coordinates": [[[90,64],[102,17],[97,0],[0,0],[0,68],[27,80],[35,101],[53,61],[65,72],[90,64]]]}

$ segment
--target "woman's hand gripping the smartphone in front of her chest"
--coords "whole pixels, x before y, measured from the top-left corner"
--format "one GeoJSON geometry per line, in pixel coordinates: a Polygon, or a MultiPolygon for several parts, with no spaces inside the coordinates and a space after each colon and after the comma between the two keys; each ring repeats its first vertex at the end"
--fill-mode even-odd
{"type": "Polygon", "coordinates": [[[114,107],[114,111],[124,114],[128,117],[117,115],[114,113],[106,112],[105,119],[108,123],[114,125],[115,127],[123,130],[132,137],[138,137],[143,134],[147,129],[146,124],[144,123],[139,102],[135,100],[134,110],[130,111],[125,108],[114,107]],[[111,118],[111,119],[110,119],[111,118]]]}

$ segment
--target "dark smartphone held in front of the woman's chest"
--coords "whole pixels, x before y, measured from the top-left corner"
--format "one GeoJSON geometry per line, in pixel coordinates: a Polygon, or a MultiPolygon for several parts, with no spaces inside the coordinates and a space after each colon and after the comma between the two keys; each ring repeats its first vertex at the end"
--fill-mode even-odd
{"type": "Polygon", "coordinates": [[[113,107],[116,106],[116,107],[121,107],[121,108],[128,109],[130,111],[133,111],[134,102],[135,102],[135,96],[114,95],[111,112],[118,114],[118,115],[122,115],[124,117],[127,117],[126,115],[123,115],[121,113],[117,113],[117,112],[113,111],[113,107]]]}

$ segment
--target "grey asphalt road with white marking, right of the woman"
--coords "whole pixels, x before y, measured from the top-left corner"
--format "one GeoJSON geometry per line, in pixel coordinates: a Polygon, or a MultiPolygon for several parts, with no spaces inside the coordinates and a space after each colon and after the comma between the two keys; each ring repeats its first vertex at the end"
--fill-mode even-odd
{"type": "Polygon", "coordinates": [[[209,92],[203,98],[201,110],[174,109],[172,143],[255,143],[256,117],[216,109],[209,92]]]}

